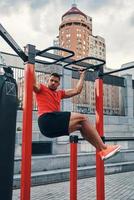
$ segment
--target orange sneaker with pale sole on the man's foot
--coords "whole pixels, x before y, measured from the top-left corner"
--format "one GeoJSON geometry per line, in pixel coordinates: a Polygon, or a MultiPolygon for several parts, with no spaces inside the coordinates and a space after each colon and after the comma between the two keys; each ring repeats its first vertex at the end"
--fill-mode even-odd
{"type": "Polygon", "coordinates": [[[120,145],[108,145],[106,149],[99,151],[102,160],[106,160],[120,151],[120,145]]]}

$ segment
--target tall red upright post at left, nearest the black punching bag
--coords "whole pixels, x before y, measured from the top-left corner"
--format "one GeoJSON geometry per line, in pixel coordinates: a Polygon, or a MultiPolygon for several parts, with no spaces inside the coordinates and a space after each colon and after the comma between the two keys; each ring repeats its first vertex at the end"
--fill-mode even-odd
{"type": "Polygon", "coordinates": [[[22,163],[21,163],[21,200],[30,200],[31,186],[31,152],[32,152],[32,97],[33,97],[33,64],[25,65],[22,163]]]}

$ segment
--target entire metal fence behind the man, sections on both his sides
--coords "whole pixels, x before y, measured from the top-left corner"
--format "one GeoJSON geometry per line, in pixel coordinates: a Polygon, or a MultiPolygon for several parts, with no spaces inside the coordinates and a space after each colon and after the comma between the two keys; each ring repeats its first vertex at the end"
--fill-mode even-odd
{"type": "MultiPolygon", "coordinates": [[[[18,84],[19,108],[23,109],[24,95],[24,69],[13,67],[14,77],[18,84]]],[[[37,80],[45,83],[50,73],[36,71],[37,80]]],[[[72,87],[78,81],[76,74],[72,76],[72,87]]],[[[87,74],[84,82],[83,91],[80,95],[72,98],[72,111],[85,114],[95,112],[95,76],[91,72],[87,74]]],[[[64,85],[63,85],[64,87],[64,85]]],[[[125,85],[124,78],[108,76],[104,80],[104,114],[105,115],[125,115],[125,85]]],[[[33,110],[37,110],[35,95],[33,95],[33,110]]]]}

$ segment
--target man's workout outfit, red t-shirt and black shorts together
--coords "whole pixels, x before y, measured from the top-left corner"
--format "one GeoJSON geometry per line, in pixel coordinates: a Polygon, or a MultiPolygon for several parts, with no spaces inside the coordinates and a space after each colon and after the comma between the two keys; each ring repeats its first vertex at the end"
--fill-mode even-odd
{"type": "Polygon", "coordinates": [[[65,96],[64,90],[53,91],[40,84],[40,92],[35,93],[38,106],[38,125],[46,137],[69,135],[70,112],[60,112],[60,102],[65,96]]]}

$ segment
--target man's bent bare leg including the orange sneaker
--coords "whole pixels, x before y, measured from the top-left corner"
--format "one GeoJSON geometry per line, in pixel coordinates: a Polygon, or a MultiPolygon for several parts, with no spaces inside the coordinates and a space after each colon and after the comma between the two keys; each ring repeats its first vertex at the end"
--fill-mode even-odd
{"type": "Polygon", "coordinates": [[[105,145],[97,130],[92,126],[88,118],[79,113],[71,113],[69,133],[80,130],[82,136],[90,142],[98,151],[102,160],[113,156],[121,148],[120,145],[105,145]]]}

